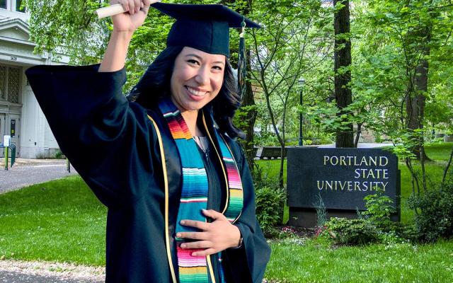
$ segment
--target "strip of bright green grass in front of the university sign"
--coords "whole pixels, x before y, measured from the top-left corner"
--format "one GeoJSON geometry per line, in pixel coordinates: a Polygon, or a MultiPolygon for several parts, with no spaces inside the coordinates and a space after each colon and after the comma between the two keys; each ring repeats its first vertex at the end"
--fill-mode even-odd
{"type": "Polygon", "coordinates": [[[307,240],[271,246],[270,282],[453,282],[453,241],[334,249],[307,240]]]}

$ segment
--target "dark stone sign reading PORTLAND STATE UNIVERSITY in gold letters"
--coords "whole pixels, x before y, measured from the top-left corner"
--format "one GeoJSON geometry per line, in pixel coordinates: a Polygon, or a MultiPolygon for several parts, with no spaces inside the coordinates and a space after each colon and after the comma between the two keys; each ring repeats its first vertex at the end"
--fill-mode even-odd
{"type": "Polygon", "coordinates": [[[377,188],[399,200],[398,158],[384,149],[288,149],[289,207],[365,210],[377,188]]]}

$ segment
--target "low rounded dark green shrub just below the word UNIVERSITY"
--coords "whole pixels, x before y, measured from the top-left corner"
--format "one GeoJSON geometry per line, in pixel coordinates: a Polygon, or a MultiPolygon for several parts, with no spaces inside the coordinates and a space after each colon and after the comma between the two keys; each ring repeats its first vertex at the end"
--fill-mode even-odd
{"type": "Polygon", "coordinates": [[[366,219],[331,218],[326,223],[329,236],[334,243],[343,245],[365,245],[378,241],[376,226],[366,219]]]}

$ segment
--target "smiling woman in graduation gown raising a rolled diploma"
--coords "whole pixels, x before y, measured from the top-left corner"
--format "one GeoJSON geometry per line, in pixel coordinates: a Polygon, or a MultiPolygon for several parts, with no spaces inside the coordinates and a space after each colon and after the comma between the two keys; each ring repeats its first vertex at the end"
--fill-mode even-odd
{"type": "Polygon", "coordinates": [[[128,12],[113,16],[100,66],[27,71],[60,148],[108,207],[106,282],[260,282],[270,250],[231,139],[240,100],[228,29],[243,17],[153,4],[177,21],[130,102],[125,57],[150,1],[115,2],[128,12]]]}

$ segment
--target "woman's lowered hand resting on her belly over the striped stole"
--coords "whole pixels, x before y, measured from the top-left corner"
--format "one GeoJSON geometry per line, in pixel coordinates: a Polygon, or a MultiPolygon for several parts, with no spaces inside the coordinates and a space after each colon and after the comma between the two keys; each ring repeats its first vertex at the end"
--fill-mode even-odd
{"type": "Polygon", "coordinates": [[[202,210],[205,216],[210,217],[213,221],[202,222],[194,220],[181,220],[183,226],[190,226],[200,229],[200,232],[180,232],[178,238],[195,240],[181,244],[183,249],[205,249],[194,252],[193,256],[206,256],[219,253],[227,248],[239,246],[241,241],[241,232],[238,227],[226,219],[224,214],[215,210],[202,210]]]}

